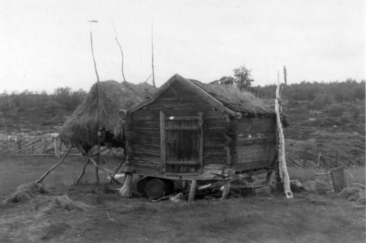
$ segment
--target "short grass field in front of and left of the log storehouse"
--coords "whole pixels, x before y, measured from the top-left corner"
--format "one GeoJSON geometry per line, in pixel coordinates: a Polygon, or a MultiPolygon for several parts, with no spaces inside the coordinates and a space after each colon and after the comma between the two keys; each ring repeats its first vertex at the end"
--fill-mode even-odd
{"type": "MultiPolygon", "coordinates": [[[[55,157],[3,156],[1,200],[19,185],[40,178],[55,163],[55,157]]],[[[92,184],[95,176],[91,166],[87,167],[81,185],[74,186],[84,163],[83,157],[68,157],[51,172],[43,182],[51,194],[29,202],[1,204],[0,241],[365,242],[366,239],[365,209],[336,194],[295,193],[293,200],[287,200],[284,194],[274,193],[224,201],[196,200],[191,204],[153,203],[137,196],[122,198],[108,193],[103,185],[92,184]],[[88,207],[49,213],[52,200],[62,195],[88,207]]],[[[113,168],[118,162],[107,159],[101,163],[113,168]]],[[[290,170],[290,176],[311,179],[314,172],[318,171],[290,170]]],[[[355,175],[350,178],[356,178],[355,175]]],[[[107,181],[104,175],[100,177],[102,182],[107,181]]]]}

